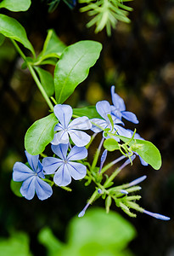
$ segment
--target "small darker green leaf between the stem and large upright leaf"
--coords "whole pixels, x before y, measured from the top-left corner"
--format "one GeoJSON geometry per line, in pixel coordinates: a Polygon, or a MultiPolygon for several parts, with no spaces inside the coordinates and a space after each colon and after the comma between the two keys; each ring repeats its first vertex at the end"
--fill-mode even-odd
{"type": "Polygon", "coordinates": [[[41,80],[42,87],[46,91],[48,97],[53,96],[54,84],[52,74],[49,73],[47,70],[42,69],[41,67],[35,67],[35,69],[41,80]]]}

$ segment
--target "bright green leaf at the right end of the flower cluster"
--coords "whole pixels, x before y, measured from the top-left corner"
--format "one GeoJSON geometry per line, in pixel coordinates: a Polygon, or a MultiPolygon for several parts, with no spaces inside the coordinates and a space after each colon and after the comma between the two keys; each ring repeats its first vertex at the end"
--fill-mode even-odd
{"type": "MultiPolygon", "coordinates": [[[[127,143],[130,139],[127,137],[117,136],[123,142],[127,143]]],[[[132,150],[136,151],[144,161],[146,161],[155,170],[159,170],[161,166],[161,156],[158,148],[153,143],[145,140],[133,139],[129,146],[132,146],[132,150]]]]}

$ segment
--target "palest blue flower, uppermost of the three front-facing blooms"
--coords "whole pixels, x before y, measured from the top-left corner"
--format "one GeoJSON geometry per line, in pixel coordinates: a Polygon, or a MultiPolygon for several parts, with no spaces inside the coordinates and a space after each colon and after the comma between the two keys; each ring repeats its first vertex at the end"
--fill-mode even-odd
{"type": "Polygon", "coordinates": [[[53,108],[55,116],[59,119],[59,124],[55,125],[54,131],[58,131],[52,144],[67,144],[69,137],[77,147],[83,147],[90,142],[91,137],[84,131],[92,127],[90,120],[86,117],[79,117],[70,122],[72,117],[72,108],[69,105],[58,104],[53,108]]]}

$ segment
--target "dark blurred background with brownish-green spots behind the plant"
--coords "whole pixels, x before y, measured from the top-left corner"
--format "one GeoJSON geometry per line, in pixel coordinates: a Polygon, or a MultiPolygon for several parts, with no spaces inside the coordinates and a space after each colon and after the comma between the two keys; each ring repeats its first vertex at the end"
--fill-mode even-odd
{"type": "MultiPolygon", "coordinates": [[[[126,109],[136,113],[138,133],[160,149],[163,164],[159,171],[154,171],[151,166],[141,166],[136,159],[116,183],[147,175],[142,183],[140,205],[169,216],[171,221],[163,222],[140,213],[132,219],[114,205],[111,209],[120,212],[137,230],[137,237],[129,244],[134,255],[173,256],[174,1],[134,0],[128,4],[134,9],[129,15],[132,22],[119,22],[111,37],[105,31],[95,34],[94,27],[86,27],[89,17],[79,11],[79,4],[70,10],[60,1],[58,8],[48,13],[46,1],[36,0],[25,13],[2,12],[20,21],[38,53],[49,28],[67,45],[87,39],[103,44],[97,63],[67,103],[75,108],[95,105],[100,100],[111,102],[110,87],[115,84],[115,92],[125,100],[126,109]]],[[[11,191],[14,162],[25,162],[25,131],[36,119],[48,114],[48,106],[31,74],[21,69],[22,62],[6,39],[0,47],[0,238],[8,238],[17,231],[25,232],[31,253],[47,255],[37,239],[40,230],[48,226],[60,241],[65,241],[70,219],[81,212],[94,186],[84,187],[82,182],[73,182],[71,193],[54,188],[53,196],[47,201],[38,201],[36,197],[27,201],[11,191]]],[[[53,73],[53,67],[46,68],[53,73]]],[[[134,129],[135,126],[127,122],[126,127],[134,129]]],[[[96,145],[98,143],[96,138],[96,145]]],[[[92,156],[93,153],[89,158],[92,156]]],[[[114,159],[115,155],[109,154],[109,157],[114,159]]],[[[104,207],[104,202],[98,200],[93,207],[104,207]]]]}

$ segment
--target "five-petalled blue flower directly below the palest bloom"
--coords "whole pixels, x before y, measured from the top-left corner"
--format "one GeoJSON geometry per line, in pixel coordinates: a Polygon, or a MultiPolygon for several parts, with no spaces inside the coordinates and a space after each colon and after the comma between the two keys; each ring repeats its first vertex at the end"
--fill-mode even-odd
{"type": "Polygon", "coordinates": [[[68,144],[52,145],[53,153],[59,158],[45,157],[42,160],[43,169],[47,174],[53,174],[53,181],[60,187],[67,186],[71,177],[78,180],[86,176],[87,167],[74,160],[87,157],[87,148],[74,146],[67,156],[68,144]]]}

